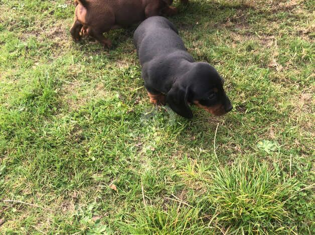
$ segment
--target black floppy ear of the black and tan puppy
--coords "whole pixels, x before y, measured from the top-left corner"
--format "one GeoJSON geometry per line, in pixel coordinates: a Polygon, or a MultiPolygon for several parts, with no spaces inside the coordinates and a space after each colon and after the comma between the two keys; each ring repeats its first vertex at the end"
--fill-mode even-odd
{"type": "Polygon", "coordinates": [[[166,101],[170,107],[181,116],[192,118],[193,112],[188,104],[188,87],[184,88],[174,84],[166,95],[166,101]]]}

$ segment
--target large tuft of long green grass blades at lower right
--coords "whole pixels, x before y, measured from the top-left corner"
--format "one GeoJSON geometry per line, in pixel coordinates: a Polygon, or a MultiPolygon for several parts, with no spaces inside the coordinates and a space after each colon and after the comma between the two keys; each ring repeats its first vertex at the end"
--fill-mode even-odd
{"type": "Polygon", "coordinates": [[[204,211],[215,211],[216,222],[235,232],[280,231],[292,221],[288,200],[295,195],[295,180],[265,163],[217,167],[204,211]]]}

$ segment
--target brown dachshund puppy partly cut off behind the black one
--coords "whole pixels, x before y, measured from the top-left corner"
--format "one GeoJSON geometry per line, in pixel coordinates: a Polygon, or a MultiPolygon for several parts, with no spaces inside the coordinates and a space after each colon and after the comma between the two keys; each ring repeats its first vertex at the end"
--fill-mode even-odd
{"type": "Polygon", "coordinates": [[[70,32],[74,40],[89,35],[109,47],[111,41],[104,37],[104,32],[150,16],[175,14],[177,9],[170,7],[172,3],[173,0],[75,0],[75,20],[70,32]]]}

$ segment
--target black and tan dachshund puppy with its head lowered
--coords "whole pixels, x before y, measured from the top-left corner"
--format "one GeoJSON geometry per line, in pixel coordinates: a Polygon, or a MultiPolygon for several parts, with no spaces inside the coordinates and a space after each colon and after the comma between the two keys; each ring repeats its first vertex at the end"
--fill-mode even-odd
{"type": "Polygon", "coordinates": [[[151,103],[167,102],[186,118],[193,117],[189,104],[218,116],[232,109],[224,79],[209,63],[195,62],[167,18],[147,18],[135,30],[133,40],[151,103]]]}

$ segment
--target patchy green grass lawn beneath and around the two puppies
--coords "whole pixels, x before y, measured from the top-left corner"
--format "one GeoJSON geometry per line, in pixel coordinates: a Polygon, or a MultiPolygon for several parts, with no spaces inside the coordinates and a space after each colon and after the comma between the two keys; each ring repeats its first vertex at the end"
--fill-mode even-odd
{"type": "Polygon", "coordinates": [[[1,234],[314,234],[314,0],[170,19],[234,109],[149,103],[132,32],[72,41],[72,0],[0,0],[1,234]]]}

